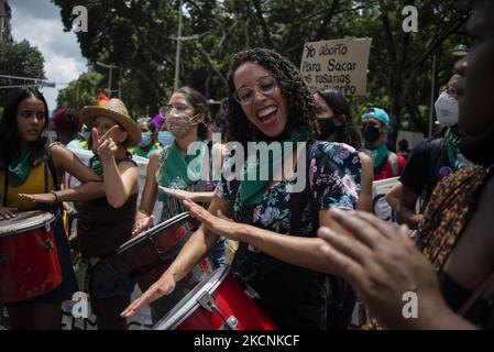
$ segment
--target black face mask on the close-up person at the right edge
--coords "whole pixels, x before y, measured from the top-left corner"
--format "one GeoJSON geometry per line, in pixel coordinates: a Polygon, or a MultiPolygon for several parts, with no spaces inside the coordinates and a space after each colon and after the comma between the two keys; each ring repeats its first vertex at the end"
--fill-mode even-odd
{"type": "Polygon", "coordinates": [[[479,165],[494,164],[494,125],[479,136],[465,136],[460,152],[469,161],[479,165]]]}

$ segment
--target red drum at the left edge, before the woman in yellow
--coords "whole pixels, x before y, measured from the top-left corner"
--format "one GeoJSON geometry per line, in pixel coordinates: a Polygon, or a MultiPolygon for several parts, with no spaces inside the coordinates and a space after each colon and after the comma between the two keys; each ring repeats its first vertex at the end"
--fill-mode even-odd
{"type": "Polygon", "coordinates": [[[0,221],[0,304],[31,299],[62,283],[52,222],[45,211],[0,221]]]}

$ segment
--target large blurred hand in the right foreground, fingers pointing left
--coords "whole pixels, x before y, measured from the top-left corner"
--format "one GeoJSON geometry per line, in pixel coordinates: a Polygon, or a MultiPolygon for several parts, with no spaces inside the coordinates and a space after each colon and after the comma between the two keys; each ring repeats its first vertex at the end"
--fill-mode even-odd
{"type": "Polygon", "coordinates": [[[321,251],[328,265],[352,284],[385,326],[419,327],[444,309],[436,271],[409,239],[405,226],[395,230],[359,211],[343,213],[333,209],[330,218],[341,230],[319,228],[318,235],[326,241],[321,251]],[[406,293],[417,295],[420,320],[405,319],[406,293]]]}

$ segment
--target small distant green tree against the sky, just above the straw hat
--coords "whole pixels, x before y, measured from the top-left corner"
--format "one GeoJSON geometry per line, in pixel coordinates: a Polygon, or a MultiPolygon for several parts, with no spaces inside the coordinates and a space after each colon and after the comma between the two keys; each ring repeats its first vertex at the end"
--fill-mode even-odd
{"type": "Polygon", "coordinates": [[[57,110],[62,108],[80,110],[85,106],[96,106],[98,95],[103,91],[105,84],[105,76],[99,73],[89,72],[80,75],[58,92],[57,110]]]}

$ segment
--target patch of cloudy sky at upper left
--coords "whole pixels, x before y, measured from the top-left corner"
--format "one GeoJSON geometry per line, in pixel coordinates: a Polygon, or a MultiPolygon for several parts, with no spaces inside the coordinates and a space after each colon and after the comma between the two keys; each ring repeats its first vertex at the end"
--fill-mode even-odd
{"type": "Polygon", "coordinates": [[[55,88],[42,89],[53,111],[58,90],[86,72],[87,62],[80,54],[77,36],[74,32],[64,32],[59,8],[51,0],[9,0],[9,4],[14,41],[28,40],[31,46],[37,47],[45,59],[47,80],[56,82],[55,88]]]}

